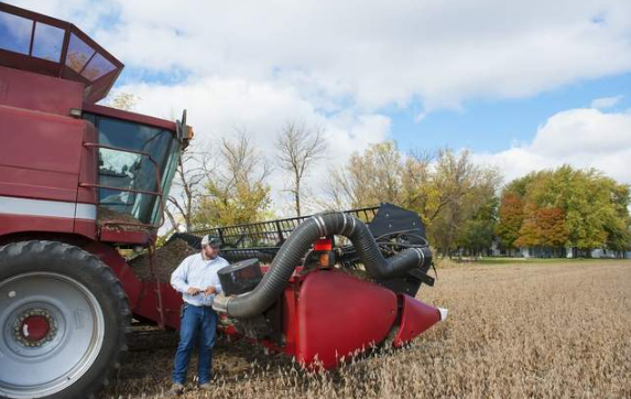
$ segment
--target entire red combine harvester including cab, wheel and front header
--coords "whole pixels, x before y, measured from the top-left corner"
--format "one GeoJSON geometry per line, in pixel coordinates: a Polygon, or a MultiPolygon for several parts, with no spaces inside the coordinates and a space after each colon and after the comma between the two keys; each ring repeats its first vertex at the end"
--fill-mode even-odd
{"type": "MultiPolygon", "coordinates": [[[[132,317],[178,327],[155,239],[193,132],[186,114],[96,105],[122,67],[75,25],[0,3],[0,398],[90,397],[120,366],[132,317]],[[149,279],[121,256],[143,248],[149,279]]],[[[232,262],[220,330],[307,367],[404,345],[444,316],[414,299],[433,284],[432,255],[418,216],[396,206],[172,239],[202,234],[232,262]]]]}

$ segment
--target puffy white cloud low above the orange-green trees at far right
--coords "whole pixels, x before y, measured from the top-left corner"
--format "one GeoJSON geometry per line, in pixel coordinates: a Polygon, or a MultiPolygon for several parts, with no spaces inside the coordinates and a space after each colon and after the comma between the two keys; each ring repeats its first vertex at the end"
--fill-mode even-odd
{"type": "Polygon", "coordinates": [[[532,143],[475,157],[478,162],[498,166],[507,181],[568,163],[596,168],[619,182],[631,183],[631,112],[566,110],[540,127],[532,143]]]}

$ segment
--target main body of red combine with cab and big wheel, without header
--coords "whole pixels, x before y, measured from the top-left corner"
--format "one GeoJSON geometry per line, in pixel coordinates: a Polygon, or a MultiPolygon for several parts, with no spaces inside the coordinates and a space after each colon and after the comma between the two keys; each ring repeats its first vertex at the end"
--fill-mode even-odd
{"type": "Polygon", "coordinates": [[[118,249],[155,241],[192,132],[96,105],[122,67],[75,25],[0,3],[1,398],[87,398],[132,314],[177,314],[118,249]]]}

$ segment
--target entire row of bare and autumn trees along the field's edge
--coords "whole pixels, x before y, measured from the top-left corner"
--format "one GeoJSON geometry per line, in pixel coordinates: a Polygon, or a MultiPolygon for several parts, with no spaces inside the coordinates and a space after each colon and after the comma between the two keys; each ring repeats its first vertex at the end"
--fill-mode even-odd
{"type": "MultiPolygon", "coordinates": [[[[292,198],[292,214],[305,196],[319,209],[392,203],[423,218],[440,256],[485,255],[496,244],[508,255],[531,248],[537,256],[589,256],[595,248],[622,254],[631,247],[629,185],[596,170],[564,165],[533,172],[502,186],[500,172],[480,165],[468,151],[402,153],[394,141],[355,152],[337,169],[318,164],[327,145],[323,131],[287,123],[265,159],[246,131],[222,139],[213,157],[188,149],[178,165],[167,216],[187,230],[274,218],[270,174],[279,169],[292,198]],[[326,170],[328,183],[314,194],[305,179],[326,170]]],[[[292,215],[283,215],[292,216],[292,215]]]]}

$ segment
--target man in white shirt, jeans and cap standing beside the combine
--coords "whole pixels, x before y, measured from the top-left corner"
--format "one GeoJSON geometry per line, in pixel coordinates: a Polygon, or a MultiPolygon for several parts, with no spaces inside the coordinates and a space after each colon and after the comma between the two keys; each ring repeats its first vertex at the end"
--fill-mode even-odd
{"type": "Polygon", "coordinates": [[[171,392],[184,392],[184,382],[191,360],[191,352],[198,338],[199,364],[197,375],[199,388],[209,389],[213,377],[213,346],[217,328],[217,314],[213,310],[215,295],[221,292],[217,271],[228,266],[219,256],[219,240],[216,237],[202,238],[202,254],[184,259],[171,274],[171,285],[182,292],[184,306],[179,322],[179,344],[173,366],[171,392]]]}

